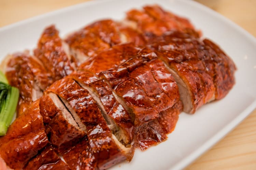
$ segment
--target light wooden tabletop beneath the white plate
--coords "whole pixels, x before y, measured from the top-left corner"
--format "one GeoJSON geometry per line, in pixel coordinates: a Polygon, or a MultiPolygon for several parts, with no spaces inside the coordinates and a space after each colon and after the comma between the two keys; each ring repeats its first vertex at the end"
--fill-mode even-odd
{"type": "MultiPolygon", "coordinates": [[[[87,0],[0,0],[0,27],[87,0]]],[[[256,0],[197,0],[256,37],[256,0]]],[[[256,110],[186,169],[256,169],[256,110]]]]}

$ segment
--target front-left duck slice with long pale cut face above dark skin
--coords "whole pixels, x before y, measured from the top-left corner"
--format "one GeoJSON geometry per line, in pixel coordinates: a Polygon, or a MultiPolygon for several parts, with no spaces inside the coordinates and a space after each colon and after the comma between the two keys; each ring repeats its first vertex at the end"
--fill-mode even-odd
{"type": "Polygon", "coordinates": [[[63,153],[79,142],[86,135],[86,132],[80,129],[71,113],[56,94],[49,92],[44,96],[48,96],[50,100],[43,103],[43,105],[47,104],[49,111],[57,112],[53,112],[56,115],[47,124],[45,132],[56,151],[63,153]]]}

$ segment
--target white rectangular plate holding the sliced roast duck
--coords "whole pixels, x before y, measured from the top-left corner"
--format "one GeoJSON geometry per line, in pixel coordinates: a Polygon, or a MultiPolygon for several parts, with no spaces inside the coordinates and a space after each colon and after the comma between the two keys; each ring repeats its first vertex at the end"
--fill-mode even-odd
{"type": "Polygon", "coordinates": [[[256,107],[256,39],[209,8],[186,0],[92,1],[0,29],[2,60],[7,53],[34,48],[49,24],[56,24],[64,36],[92,21],[122,19],[131,8],[155,3],[189,18],[205,37],[219,44],[237,65],[237,83],[224,99],[201,107],[195,115],[182,113],[167,141],[144,152],[136,150],[130,163],[118,164],[115,170],[182,169],[250,114],[256,107]]]}

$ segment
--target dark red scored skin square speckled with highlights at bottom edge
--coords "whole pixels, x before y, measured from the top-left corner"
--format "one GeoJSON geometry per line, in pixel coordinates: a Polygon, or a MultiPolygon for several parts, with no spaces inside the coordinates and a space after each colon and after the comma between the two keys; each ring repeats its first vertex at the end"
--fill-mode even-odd
{"type": "Polygon", "coordinates": [[[97,160],[90,148],[87,137],[63,154],[63,159],[70,169],[98,169],[97,160]]]}

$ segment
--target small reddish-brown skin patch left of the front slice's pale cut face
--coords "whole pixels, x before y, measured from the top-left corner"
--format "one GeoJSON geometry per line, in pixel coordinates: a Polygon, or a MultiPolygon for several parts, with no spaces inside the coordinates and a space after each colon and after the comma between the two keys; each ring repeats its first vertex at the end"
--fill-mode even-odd
{"type": "Polygon", "coordinates": [[[43,117],[44,124],[48,124],[51,122],[52,118],[61,111],[47,94],[44,94],[39,100],[40,114],[43,117]]]}

